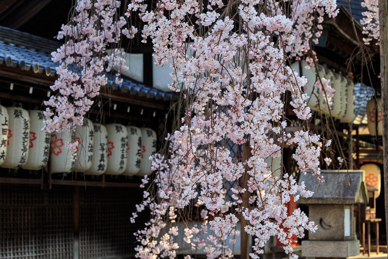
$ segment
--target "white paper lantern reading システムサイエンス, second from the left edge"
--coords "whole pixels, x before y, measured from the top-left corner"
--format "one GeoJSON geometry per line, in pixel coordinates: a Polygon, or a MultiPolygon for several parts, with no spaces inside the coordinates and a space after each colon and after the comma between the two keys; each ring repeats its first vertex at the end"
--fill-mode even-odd
{"type": "Polygon", "coordinates": [[[27,162],[30,145],[30,116],[28,111],[18,107],[7,107],[9,114],[7,155],[3,168],[20,168],[27,162]]]}

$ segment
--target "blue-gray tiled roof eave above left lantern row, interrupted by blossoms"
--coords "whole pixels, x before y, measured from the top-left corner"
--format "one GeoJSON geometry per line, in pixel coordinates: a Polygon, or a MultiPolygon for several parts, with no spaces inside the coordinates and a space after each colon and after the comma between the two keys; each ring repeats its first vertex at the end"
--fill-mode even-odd
{"type": "MultiPolygon", "coordinates": [[[[52,62],[51,52],[56,51],[60,46],[61,43],[57,41],[0,26],[0,64],[5,64],[8,67],[55,76],[55,68],[59,64],[52,62]]],[[[110,75],[107,76],[108,82],[113,85],[113,88],[120,88],[123,92],[156,100],[176,99],[175,93],[163,92],[125,77],[123,77],[123,83],[120,86],[114,86],[114,79],[112,80],[110,75]]]]}

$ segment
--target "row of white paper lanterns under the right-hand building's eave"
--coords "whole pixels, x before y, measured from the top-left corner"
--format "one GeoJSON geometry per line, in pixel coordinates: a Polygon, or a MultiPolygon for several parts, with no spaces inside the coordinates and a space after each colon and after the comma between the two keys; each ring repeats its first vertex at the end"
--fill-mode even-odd
{"type": "Polygon", "coordinates": [[[330,79],[329,85],[336,90],[333,97],[333,105],[330,107],[331,115],[342,123],[352,122],[356,117],[356,97],[353,82],[321,65],[317,65],[317,68],[311,67],[310,69],[307,69],[307,67],[308,63],[306,61],[301,61],[302,71],[299,69],[299,62],[292,64],[292,69],[297,71],[300,76],[303,75],[307,78],[304,93],[307,93],[307,95],[310,96],[307,104],[308,107],[313,111],[319,111],[321,108],[323,113],[329,113],[329,108],[324,102],[324,94],[319,94],[317,89],[314,90],[316,96],[312,94],[314,83],[318,80],[318,70],[320,77],[330,79]]]}

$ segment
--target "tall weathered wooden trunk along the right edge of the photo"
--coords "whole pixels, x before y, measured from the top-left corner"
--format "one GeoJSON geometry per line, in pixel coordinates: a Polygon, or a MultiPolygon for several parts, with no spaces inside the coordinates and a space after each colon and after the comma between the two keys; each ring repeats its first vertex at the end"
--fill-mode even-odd
{"type": "MultiPolygon", "coordinates": [[[[380,73],[381,73],[381,104],[383,111],[383,154],[384,154],[384,199],[385,224],[388,237],[388,11],[387,0],[379,0],[380,24],[380,73]]],[[[388,240],[388,239],[387,239],[388,240]]]]}

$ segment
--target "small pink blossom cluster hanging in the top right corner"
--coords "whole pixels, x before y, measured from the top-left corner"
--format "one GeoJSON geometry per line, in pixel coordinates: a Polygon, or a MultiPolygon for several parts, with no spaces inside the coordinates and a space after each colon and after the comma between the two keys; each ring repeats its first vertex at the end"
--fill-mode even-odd
{"type": "Polygon", "coordinates": [[[362,12],[365,16],[360,20],[361,25],[364,25],[363,34],[368,37],[364,38],[365,45],[369,45],[372,39],[376,39],[376,45],[379,44],[380,32],[379,32],[379,5],[378,0],[364,0],[361,3],[362,7],[368,8],[368,11],[362,12]]]}

